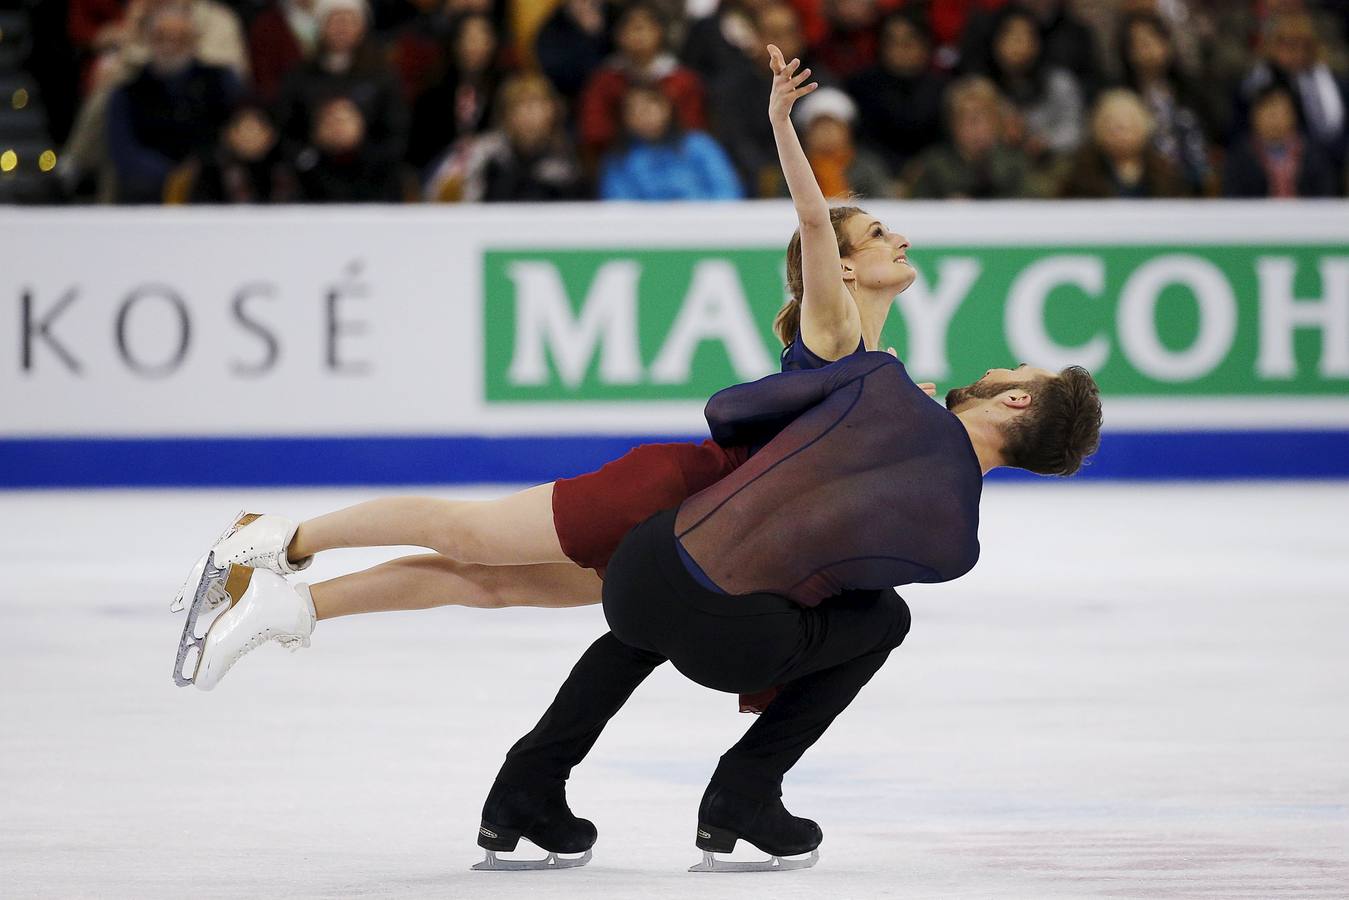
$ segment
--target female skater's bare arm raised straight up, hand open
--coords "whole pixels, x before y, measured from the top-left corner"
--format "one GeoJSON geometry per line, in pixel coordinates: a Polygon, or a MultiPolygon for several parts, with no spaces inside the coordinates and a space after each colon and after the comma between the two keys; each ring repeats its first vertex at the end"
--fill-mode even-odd
{"type": "Polygon", "coordinates": [[[801,224],[801,337],[819,356],[839,359],[857,349],[862,320],[853,296],[843,286],[830,205],[815,181],[791,117],[792,105],[819,85],[805,84],[811,70],[797,72],[800,59],[784,62],[782,51],[774,45],[768,46],[768,53],[773,69],[768,115],[773,123],[782,177],[801,224]]]}

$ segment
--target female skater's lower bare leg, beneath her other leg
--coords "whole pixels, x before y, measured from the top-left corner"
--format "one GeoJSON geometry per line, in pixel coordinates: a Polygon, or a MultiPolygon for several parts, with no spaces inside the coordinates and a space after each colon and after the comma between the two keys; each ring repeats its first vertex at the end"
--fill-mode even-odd
{"type": "Polygon", "coordinates": [[[310,586],[320,619],[355,613],[425,610],[433,606],[568,607],[599,603],[603,582],[575,563],[476,565],[437,553],[405,556],[353,575],[310,586]]]}

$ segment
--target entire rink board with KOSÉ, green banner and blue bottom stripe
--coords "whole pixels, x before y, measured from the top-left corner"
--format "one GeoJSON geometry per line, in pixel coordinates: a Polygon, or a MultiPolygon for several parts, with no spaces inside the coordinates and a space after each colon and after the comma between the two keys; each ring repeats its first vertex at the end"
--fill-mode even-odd
{"type": "MultiPolygon", "coordinates": [[[[1349,476],[1349,204],[869,205],[940,390],[1086,364],[1090,478],[1349,476]]],[[[3,210],[0,487],[537,482],[777,368],[789,204],[3,210]]]]}

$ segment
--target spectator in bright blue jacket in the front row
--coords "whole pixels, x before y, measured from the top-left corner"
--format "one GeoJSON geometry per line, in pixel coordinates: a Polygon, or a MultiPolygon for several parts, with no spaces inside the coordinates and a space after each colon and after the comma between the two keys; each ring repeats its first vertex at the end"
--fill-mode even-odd
{"type": "Polygon", "coordinates": [[[600,200],[739,200],[745,196],[726,151],[701,131],[684,131],[669,99],[650,85],[623,96],[619,150],[600,165],[600,200]]]}

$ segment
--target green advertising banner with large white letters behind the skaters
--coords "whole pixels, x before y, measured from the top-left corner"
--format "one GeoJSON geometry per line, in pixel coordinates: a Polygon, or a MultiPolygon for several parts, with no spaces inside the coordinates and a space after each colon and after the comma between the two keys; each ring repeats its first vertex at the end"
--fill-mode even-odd
{"type": "MultiPolygon", "coordinates": [[[[1110,395],[1349,395],[1349,248],[921,247],[884,345],[917,379],[1083,364],[1110,395]]],[[[777,370],[782,250],[487,250],[488,403],[703,399],[777,370]]]]}

